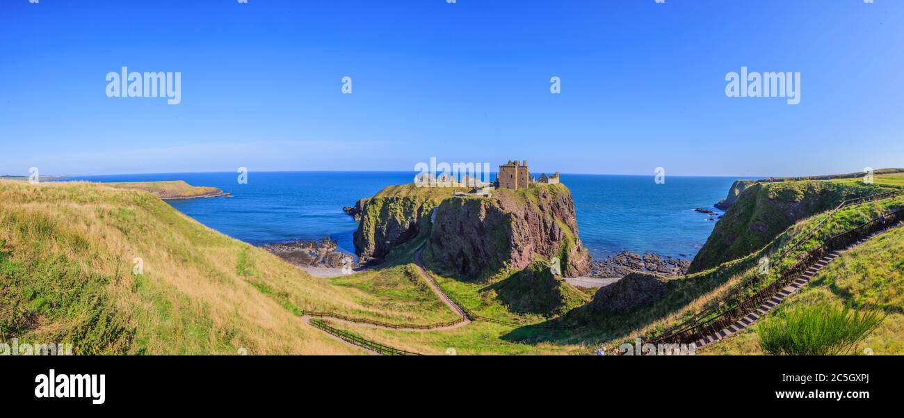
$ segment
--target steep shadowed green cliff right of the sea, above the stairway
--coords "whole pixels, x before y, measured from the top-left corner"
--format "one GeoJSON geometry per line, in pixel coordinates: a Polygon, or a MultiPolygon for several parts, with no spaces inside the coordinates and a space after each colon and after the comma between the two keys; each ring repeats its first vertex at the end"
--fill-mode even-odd
{"type": "Polygon", "coordinates": [[[843,181],[756,183],[741,193],[716,223],[688,272],[702,271],[758,251],[788,226],[829,211],[846,199],[887,191],[843,181]]]}

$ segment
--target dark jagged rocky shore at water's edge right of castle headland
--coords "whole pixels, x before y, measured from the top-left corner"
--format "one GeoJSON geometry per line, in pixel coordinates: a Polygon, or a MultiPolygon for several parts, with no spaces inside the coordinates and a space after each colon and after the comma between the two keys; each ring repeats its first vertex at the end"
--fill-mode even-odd
{"type": "Polygon", "coordinates": [[[652,272],[666,276],[681,276],[690,266],[691,261],[680,258],[663,257],[653,252],[646,252],[641,256],[623,251],[603,260],[591,261],[590,274],[595,277],[624,277],[630,273],[652,272]]]}

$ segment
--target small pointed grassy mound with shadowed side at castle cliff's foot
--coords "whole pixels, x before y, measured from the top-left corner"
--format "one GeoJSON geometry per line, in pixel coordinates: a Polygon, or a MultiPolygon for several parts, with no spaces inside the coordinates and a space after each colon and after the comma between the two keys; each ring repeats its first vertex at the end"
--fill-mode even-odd
{"type": "Polygon", "coordinates": [[[485,291],[495,292],[496,298],[514,313],[544,317],[562,315],[589,301],[586,293],[553,276],[542,261],[532,262],[485,291]]]}

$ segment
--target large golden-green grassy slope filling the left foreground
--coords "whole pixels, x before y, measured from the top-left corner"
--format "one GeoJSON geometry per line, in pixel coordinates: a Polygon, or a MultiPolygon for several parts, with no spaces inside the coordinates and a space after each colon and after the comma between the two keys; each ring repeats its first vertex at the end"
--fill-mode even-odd
{"type": "Polygon", "coordinates": [[[446,315],[423,315],[445,307],[406,290],[400,271],[370,273],[388,275],[379,290],[316,279],[143,191],[0,180],[0,341],[80,354],[360,354],[297,309],[446,315]]]}

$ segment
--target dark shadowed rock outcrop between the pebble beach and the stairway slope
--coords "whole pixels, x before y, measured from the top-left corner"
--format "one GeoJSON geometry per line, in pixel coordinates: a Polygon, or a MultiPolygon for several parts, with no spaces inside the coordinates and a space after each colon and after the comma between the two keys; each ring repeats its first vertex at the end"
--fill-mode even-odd
{"type": "Polygon", "coordinates": [[[590,301],[590,309],[627,313],[662,299],[667,291],[668,285],[662,275],[630,273],[622,280],[599,288],[590,301]]]}

